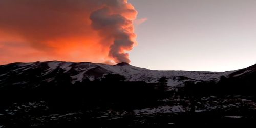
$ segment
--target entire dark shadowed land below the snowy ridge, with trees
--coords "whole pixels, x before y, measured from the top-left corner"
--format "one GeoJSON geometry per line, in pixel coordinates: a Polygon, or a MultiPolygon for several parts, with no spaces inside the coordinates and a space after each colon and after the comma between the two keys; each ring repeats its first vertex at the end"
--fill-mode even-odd
{"type": "Polygon", "coordinates": [[[243,69],[217,80],[179,76],[182,86],[170,87],[165,76],[146,83],[107,72],[99,79],[72,83],[74,72],[55,69],[40,76],[45,67],[26,71],[15,65],[0,66],[1,128],[256,125],[253,67],[249,74],[240,75],[248,71],[243,69]]]}

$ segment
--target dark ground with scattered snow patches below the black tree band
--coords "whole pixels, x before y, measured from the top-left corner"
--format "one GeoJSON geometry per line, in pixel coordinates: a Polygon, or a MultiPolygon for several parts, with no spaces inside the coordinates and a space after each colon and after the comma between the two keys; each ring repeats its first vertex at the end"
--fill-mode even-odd
{"type": "MultiPolygon", "coordinates": [[[[183,127],[255,126],[255,102],[248,99],[214,98],[190,112],[189,102],[162,102],[138,109],[52,108],[46,101],[15,102],[1,107],[1,127],[183,127]],[[246,100],[246,101],[245,101],[246,100]],[[173,104],[174,103],[174,104],[173,104]],[[225,105],[223,105],[225,104],[225,105]],[[149,107],[149,108],[147,108],[149,107]]],[[[244,98],[244,97],[243,97],[244,98]]],[[[207,100],[208,99],[208,100],[207,100]]]]}

